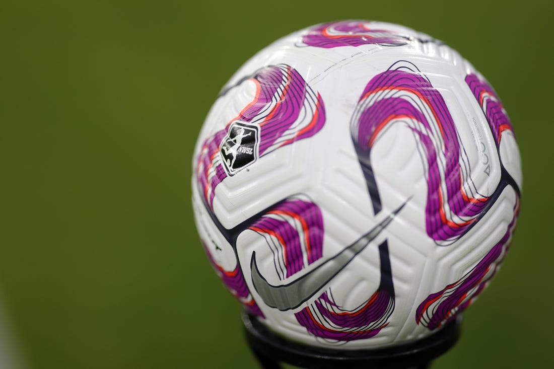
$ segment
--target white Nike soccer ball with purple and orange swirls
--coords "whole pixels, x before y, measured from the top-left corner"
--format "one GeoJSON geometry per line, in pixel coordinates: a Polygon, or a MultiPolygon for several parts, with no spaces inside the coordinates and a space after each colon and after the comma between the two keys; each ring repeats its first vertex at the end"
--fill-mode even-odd
{"type": "Polygon", "coordinates": [[[192,197],[216,273],[263,325],[374,349],[473,303],[505,258],[521,184],[510,120],[468,61],[348,20],[235,73],[199,135],[192,197]]]}

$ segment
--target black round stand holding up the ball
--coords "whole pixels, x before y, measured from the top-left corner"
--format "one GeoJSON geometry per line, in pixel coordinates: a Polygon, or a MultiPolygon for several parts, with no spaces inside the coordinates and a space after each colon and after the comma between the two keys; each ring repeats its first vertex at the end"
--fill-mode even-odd
{"type": "Polygon", "coordinates": [[[242,320],[248,345],[264,369],[280,369],[280,363],[314,369],[424,369],[454,346],[461,325],[461,315],[458,315],[435,334],[411,344],[373,350],[338,350],[286,340],[245,311],[242,320]]]}

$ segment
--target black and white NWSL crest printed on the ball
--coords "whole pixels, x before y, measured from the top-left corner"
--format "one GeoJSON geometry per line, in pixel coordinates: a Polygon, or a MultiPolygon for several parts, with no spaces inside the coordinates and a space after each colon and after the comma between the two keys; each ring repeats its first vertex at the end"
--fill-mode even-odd
{"type": "Polygon", "coordinates": [[[257,125],[235,121],[229,126],[219,148],[219,155],[229,176],[258,159],[259,136],[257,125]]]}

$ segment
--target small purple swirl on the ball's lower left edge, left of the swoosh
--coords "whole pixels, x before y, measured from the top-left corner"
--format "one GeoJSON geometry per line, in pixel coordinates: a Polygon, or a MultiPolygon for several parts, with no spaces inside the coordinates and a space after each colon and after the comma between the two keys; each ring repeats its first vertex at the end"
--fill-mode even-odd
{"type": "Polygon", "coordinates": [[[228,271],[224,270],[221,265],[217,264],[216,261],[212,257],[212,253],[209,252],[208,247],[206,244],[204,244],[204,251],[206,251],[206,254],[208,255],[209,262],[212,264],[213,269],[216,271],[216,274],[221,278],[223,281],[223,284],[227,287],[227,289],[230,291],[230,293],[237,298],[237,300],[240,301],[241,304],[245,307],[245,309],[250,312],[250,314],[264,317],[264,314],[261,312],[260,307],[258,304],[256,304],[256,301],[254,301],[254,298],[250,294],[250,291],[248,290],[248,286],[246,284],[246,280],[244,279],[244,275],[242,271],[240,270],[240,266],[237,263],[237,266],[235,269],[228,271]]]}

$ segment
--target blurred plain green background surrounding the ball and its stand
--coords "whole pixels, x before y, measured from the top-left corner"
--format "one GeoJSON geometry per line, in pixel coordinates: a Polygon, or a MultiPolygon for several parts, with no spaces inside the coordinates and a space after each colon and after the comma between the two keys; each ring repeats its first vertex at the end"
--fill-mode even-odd
{"type": "Polygon", "coordinates": [[[256,367],[194,228],[193,144],[259,49],[362,18],[459,50],[501,96],[521,148],[510,254],[433,368],[551,367],[554,7],[510,4],[5,0],[0,340],[31,369],[256,367]]]}

